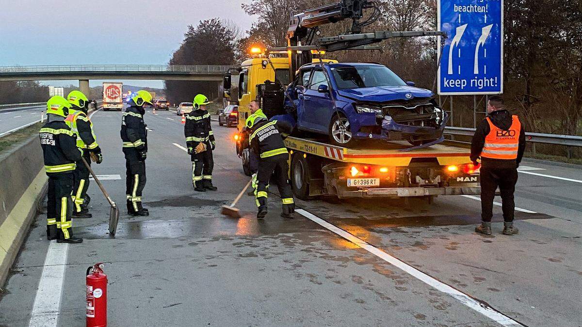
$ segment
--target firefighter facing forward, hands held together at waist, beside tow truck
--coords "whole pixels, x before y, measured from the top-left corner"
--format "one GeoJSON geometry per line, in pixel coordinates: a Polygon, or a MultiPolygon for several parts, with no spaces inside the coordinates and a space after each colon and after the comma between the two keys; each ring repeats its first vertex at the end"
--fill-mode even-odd
{"type": "Polygon", "coordinates": [[[216,148],[216,141],[210,125],[210,113],[206,110],[207,104],[210,104],[207,97],[196,95],[193,101],[194,110],[186,115],[184,125],[186,146],[192,161],[192,186],[198,192],[217,190],[212,185],[212,151],[216,148]]]}

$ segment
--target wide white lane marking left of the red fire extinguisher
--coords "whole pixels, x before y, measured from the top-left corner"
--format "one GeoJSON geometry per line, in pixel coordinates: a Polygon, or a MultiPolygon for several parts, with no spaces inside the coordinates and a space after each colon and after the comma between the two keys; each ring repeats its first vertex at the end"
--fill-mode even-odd
{"type": "Polygon", "coordinates": [[[69,244],[56,243],[56,240],[49,243],[29,326],[58,325],[68,254],[69,244]]]}

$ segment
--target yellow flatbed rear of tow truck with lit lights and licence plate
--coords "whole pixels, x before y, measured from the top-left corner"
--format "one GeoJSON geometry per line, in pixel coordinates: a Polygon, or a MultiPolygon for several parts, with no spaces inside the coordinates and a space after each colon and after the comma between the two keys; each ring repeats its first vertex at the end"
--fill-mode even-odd
{"type": "Polygon", "coordinates": [[[289,176],[299,198],[427,197],[480,194],[470,151],[452,145],[400,151],[404,143],[346,148],[313,138],[288,137],[289,176]]]}

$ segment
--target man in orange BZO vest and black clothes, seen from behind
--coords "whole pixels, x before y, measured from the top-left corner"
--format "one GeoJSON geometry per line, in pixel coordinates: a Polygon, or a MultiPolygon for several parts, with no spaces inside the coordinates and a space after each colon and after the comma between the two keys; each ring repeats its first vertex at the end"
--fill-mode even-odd
{"type": "Polygon", "coordinates": [[[495,190],[499,186],[503,210],[503,234],[517,234],[513,226],[517,167],[526,148],[526,134],[516,115],[511,115],[497,95],[487,103],[488,116],[481,121],[471,141],[471,161],[481,158],[481,224],[475,232],[491,234],[495,190]]]}

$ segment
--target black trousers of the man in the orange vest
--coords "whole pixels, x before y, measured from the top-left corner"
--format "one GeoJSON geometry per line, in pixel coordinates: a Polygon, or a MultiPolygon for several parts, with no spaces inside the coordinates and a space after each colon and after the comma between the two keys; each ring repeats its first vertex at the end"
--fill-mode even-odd
{"type": "Polygon", "coordinates": [[[481,167],[481,220],[491,222],[493,216],[493,200],[499,186],[503,209],[503,220],[513,221],[515,202],[513,193],[517,183],[516,168],[489,168],[481,167]]]}

